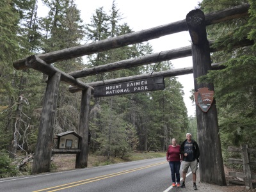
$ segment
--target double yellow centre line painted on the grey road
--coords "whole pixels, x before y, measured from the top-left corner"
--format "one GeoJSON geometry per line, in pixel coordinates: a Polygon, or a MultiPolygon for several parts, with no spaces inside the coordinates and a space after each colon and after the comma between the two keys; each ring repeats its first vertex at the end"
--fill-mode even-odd
{"type": "MultiPolygon", "coordinates": [[[[166,162],[163,162],[163,163],[166,163],[166,162]]],[[[150,165],[147,165],[147,166],[142,166],[140,168],[133,168],[131,170],[125,170],[125,171],[122,171],[122,172],[111,173],[111,174],[108,174],[108,175],[101,175],[99,177],[93,177],[93,178],[90,178],[90,179],[79,180],[79,181],[76,181],[76,182],[71,182],[71,183],[68,183],[68,184],[63,184],[63,185],[55,186],[55,187],[52,187],[52,188],[40,189],[38,191],[33,191],[33,192],[46,191],[46,190],[49,190],[49,189],[54,189],[52,191],[59,191],[61,189],[73,188],[75,186],[79,186],[79,185],[82,185],[82,184],[87,184],[87,183],[95,182],[97,180],[102,180],[102,179],[108,179],[110,177],[115,177],[115,176],[118,176],[118,175],[123,175],[125,173],[136,172],[138,170],[143,170],[145,168],[150,168],[152,166],[157,166],[157,165],[160,165],[160,164],[163,164],[163,163],[154,163],[154,164],[150,164],[150,165]],[[67,186],[67,187],[61,188],[63,186],[67,186]],[[58,189],[56,189],[56,188],[58,188],[58,189]]],[[[49,191],[49,192],[51,192],[51,191],[49,191]]]]}

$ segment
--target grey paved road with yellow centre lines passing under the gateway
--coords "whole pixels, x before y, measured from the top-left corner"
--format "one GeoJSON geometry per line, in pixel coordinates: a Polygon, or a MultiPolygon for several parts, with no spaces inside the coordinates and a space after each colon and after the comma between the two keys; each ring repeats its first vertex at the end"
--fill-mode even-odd
{"type": "MultiPolygon", "coordinates": [[[[170,166],[165,157],[0,179],[0,191],[173,191],[170,166]],[[166,190],[167,189],[167,190],[166,190]]],[[[175,189],[177,190],[177,189],[175,189]]]]}

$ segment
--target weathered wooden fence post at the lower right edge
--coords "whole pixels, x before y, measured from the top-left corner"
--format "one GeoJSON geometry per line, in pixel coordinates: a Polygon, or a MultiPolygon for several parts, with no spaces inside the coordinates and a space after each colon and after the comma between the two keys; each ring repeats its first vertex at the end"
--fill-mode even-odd
{"type": "Polygon", "coordinates": [[[242,159],[243,159],[243,170],[244,170],[244,183],[250,189],[253,189],[252,174],[250,170],[250,157],[248,155],[248,145],[242,145],[242,159]]]}

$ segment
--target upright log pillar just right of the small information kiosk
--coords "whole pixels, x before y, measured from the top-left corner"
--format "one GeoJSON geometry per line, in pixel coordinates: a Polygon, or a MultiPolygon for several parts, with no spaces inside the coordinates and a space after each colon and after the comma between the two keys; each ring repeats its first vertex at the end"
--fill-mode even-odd
{"type": "Polygon", "coordinates": [[[82,137],[79,148],[81,152],[76,155],[76,168],[84,168],[88,165],[89,152],[89,118],[90,118],[90,99],[92,90],[88,88],[82,92],[80,122],[77,133],[82,137]]]}

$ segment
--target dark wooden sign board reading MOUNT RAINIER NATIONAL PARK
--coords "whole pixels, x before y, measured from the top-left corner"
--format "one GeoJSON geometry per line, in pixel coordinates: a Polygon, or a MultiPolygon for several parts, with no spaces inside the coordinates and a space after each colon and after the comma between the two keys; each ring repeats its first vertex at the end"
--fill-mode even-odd
{"type": "Polygon", "coordinates": [[[164,77],[152,77],[106,86],[95,86],[93,97],[108,97],[127,93],[164,90],[164,77]]]}

